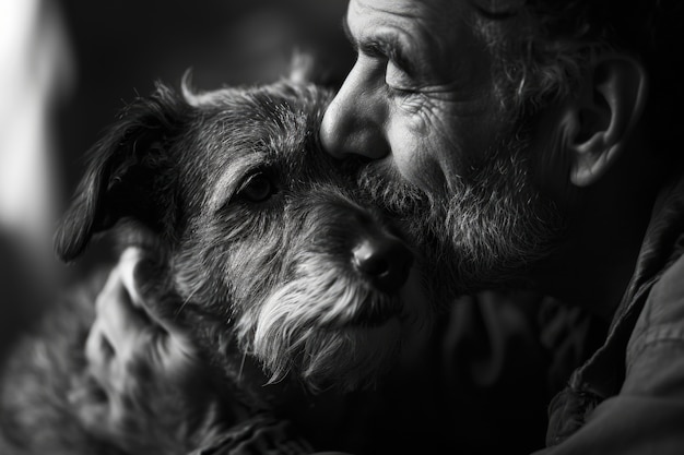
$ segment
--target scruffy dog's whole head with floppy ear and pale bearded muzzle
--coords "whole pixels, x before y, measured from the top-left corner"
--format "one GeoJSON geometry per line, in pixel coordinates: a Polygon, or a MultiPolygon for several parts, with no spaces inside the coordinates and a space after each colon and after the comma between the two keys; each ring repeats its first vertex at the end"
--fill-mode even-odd
{"type": "Polygon", "coordinates": [[[59,256],[116,225],[148,252],[138,276],[166,307],[155,311],[226,371],[237,346],[273,380],[373,382],[427,310],[406,297],[420,287],[410,250],[319,148],[330,99],[300,82],[184,96],[160,85],[91,152],[59,256]]]}

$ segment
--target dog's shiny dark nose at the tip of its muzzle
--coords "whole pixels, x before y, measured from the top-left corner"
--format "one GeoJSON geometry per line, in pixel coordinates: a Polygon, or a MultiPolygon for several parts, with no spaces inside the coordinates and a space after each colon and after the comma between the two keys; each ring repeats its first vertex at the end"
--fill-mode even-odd
{"type": "Polygon", "coordinates": [[[391,292],[406,282],[413,254],[397,238],[374,237],[364,239],[354,248],[353,262],[375,286],[391,292]]]}

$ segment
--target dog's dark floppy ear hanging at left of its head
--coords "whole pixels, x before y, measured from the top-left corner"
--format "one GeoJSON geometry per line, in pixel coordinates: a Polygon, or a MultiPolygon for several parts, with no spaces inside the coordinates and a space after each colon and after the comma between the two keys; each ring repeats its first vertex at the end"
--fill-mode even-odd
{"type": "Polygon", "coordinates": [[[85,176],[58,226],[55,250],[62,261],[83,252],[94,234],[130,217],[155,232],[173,223],[173,158],[188,105],[157,84],[156,92],[127,106],[89,152],[85,176]]]}

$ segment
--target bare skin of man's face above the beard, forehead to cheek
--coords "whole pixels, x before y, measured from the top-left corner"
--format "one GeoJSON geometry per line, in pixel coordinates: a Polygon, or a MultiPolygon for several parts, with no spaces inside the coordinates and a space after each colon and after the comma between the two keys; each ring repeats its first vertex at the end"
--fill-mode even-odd
{"type": "Polygon", "coordinates": [[[322,127],[331,154],[379,158],[435,194],[503,128],[492,63],[464,22],[468,5],[448,3],[457,2],[351,0],[346,28],[358,58],[322,127]]]}

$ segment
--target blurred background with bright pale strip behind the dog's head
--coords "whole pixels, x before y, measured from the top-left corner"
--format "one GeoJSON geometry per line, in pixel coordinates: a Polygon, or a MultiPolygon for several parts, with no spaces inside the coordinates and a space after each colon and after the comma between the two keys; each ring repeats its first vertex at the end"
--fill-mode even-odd
{"type": "Polygon", "coordinates": [[[0,0],[0,355],[89,259],[54,258],[56,220],[84,153],[160,80],[178,87],[270,82],[293,49],[331,84],[353,56],[345,0],[0,0]]]}

